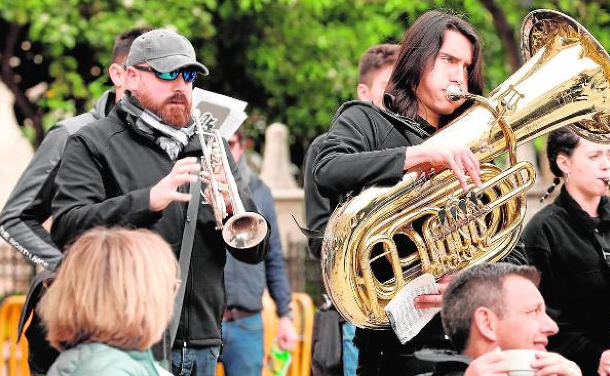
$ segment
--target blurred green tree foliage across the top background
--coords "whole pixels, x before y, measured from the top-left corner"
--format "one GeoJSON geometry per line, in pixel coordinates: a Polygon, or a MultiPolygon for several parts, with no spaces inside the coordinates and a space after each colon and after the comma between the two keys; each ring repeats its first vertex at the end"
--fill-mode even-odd
{"type": "MultiPolygon", "coordinates": [[[[37,72],[49,88],[32,104],[43,114],[44,129],[85,110],[107,88],[102,67],[117,34],[149,25],[170,27],[193,41],[211,71],[197,85],[248,101],[249,123],[259,125],[252,132],[280,121],[306,145],[328,127],[340,103],[355,97],[362,52],[400,41],[426,10],[453,9],[475,25],[485,44],[490,90],[515,68],[498,17],[518,46],[523,16],[542,7],[573,16],[610,47],[608,5],[584,0],[2,0],[0,25],[18,27],[20,40],[36,43],[50,62],[37,72]]],[[[2,38],[4,54],[33,59],[19,46],[7,50],[2,38]]]]}

